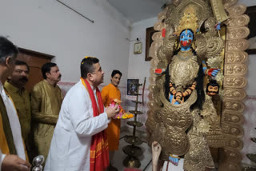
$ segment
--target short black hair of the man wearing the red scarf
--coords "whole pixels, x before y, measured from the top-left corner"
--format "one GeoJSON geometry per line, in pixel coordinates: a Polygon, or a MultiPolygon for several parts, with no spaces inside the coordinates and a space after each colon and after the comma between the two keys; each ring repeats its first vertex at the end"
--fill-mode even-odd
{"type": "Polygon", "coordinates": [[[98,62],[99,62],[98,58],[94,58],[94,57],[83,58],[80,65],[81,77],[87,78],[88,73],[93,73],[95,70],[94,64],[98,62]]]}

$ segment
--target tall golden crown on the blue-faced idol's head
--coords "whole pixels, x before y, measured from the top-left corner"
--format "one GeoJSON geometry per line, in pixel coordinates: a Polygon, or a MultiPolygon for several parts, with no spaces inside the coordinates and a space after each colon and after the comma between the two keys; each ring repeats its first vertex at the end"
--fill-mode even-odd
{"type": "Polygon", "coordinates": [[[184,15],[179,22],[178,29],[176,29],[175,33],[179,36],[182,30],[191,29],[194,34],[198,30],[198,18],[196,17],[195,10],[193,6],[187,6],[184,10],[184,15]]]}

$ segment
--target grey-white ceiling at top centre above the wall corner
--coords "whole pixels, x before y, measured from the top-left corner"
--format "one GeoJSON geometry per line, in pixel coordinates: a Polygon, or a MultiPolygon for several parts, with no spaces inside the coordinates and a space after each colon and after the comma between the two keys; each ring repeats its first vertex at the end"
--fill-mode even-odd
{"type": "Polygon", "coordinates": [[[169,0],[107,0],[130,22],[154,18],[162,11],[161,7],[169,0]]]}

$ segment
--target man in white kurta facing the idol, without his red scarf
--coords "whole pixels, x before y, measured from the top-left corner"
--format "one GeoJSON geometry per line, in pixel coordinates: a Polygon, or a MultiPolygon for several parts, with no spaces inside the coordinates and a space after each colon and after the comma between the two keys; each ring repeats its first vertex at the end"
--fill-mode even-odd
{"type": "MultiPolygon", "coordinates": [[[[94,70],[89,71],[86,80],[97,99],[95,87],[103,82],[104,72],[99,63],[93,66],[94,70]]],[[[106,112],[94,117],[90,95],[80,80],[66,93],[62,101],[44,170],[89,171],[91,138],[106,129],[110,118],[117,113],[117,107],[107,108],[106,112]]]]}

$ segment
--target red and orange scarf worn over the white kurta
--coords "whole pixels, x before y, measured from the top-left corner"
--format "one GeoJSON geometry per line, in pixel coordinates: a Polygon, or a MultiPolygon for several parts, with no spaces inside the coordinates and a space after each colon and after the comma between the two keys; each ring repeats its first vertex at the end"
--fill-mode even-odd
{"type": "MultiPolygon", "coordinates": [[[[86,87],[94,110],[94,117],[97,117],[104,112],[102,103],[102,96],[98,87],[96,88],[96,95],[98,98],[98,106],[94,97],[94,92],[86,79],[81,78],[82,84],[86,87]]],[[[90,145],[90,171],[103,171],[109,165],[109,145],[106,139],[106,131],[102,130],[91,138],[90,145]]]]}

